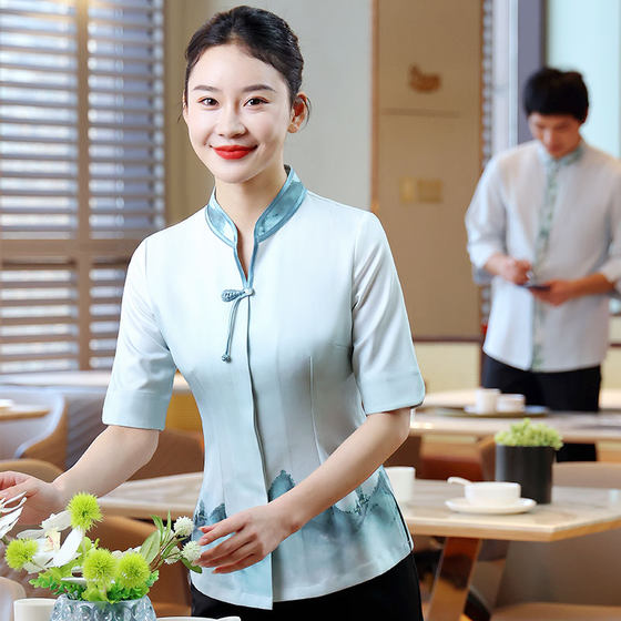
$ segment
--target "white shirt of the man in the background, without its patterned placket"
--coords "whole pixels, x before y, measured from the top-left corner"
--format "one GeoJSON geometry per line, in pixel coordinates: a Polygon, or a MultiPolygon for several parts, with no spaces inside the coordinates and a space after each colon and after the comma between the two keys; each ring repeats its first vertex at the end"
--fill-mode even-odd
{"type": "MultiPolygon", "coordinates": [[[[621,163],[581,143],[581,155],[558,173],[551,233],[539,282],[601,273],[621,291],[621,163]]],[[[479,281],[495,253],[535,263],[539,215],[546,191],[543,146],[531,141],[493,157],[466,214],[468,252],[479,281]]],[[[489,274],[488,274],[489,276],[489,274]]],[[[588,295],[544,305],[538,370],[563,371],[601,364],[608,348],[609,295],[588,295]]],[[[530,369],[533,296],[495,277],[486,354],[530,369]]]]}

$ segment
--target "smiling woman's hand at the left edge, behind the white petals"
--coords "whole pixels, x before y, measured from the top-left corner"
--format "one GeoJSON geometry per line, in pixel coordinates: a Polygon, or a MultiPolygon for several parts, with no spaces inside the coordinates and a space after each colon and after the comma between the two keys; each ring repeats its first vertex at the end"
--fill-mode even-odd
{"type": "Polygon", "coordinates": [[[21,523],[40,523],[50,513],[64,509],[64,499],[53,483],[21,472],[0,472],[0,498],[12,498],[21,492],[28,498],[20,516],[21,523]]]}

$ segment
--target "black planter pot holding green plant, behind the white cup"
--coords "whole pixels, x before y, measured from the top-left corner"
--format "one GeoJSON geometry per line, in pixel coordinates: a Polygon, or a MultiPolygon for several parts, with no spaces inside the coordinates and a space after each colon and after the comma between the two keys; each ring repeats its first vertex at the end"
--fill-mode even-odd
{"type": "Polygon", "coordinates": [[[512,447],[496,445],[496,480],[522,486],[522,498],[540,505],[552,500],[552,447],[512,447]]]}

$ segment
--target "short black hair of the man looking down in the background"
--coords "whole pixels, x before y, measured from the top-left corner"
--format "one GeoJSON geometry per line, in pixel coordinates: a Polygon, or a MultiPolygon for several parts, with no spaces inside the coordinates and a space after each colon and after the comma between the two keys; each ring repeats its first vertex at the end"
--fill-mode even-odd
{"type": "Polygon", "coordinates": [[[559,71],[544,67],[526,82],[523,106],[527,116],[539,114],[570,114],[581,123],[589,111],[589,92],[578,71],[559,71]]]}

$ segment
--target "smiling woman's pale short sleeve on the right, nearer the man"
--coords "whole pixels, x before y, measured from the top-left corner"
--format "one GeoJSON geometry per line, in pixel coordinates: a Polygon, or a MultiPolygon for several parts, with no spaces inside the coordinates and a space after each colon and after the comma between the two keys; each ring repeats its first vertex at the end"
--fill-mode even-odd
{"type": "Polygon", "coordinates": [[[425,387],[401,286],[373,214],[365,214],[358,231],[353,284],[353,367],[365,413],[420,405],[425,387]]]}

